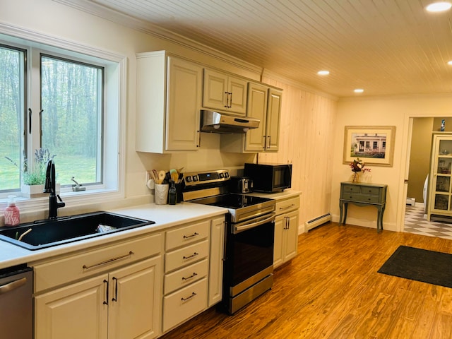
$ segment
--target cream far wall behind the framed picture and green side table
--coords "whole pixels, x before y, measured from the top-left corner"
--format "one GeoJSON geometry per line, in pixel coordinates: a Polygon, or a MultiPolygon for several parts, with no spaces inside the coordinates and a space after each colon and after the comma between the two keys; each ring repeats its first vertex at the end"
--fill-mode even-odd
{"type": "MultiPolygon", "coordinates": [[[[340,100],[335,126],[331,210],[333,220],[339,220],[340,182],[350,178],[349,165],[343,164],[345,126],[396,126],[392,167],[371,166],[367,178],[376,184],[388,184],[387,206],[383,228],[403,230],[406,188],[403,184],[407,168],[410,140],[410,117],[447,117],[451,115],[452,94],[373,97],[340,100]]],[[[376,227],[376,208],[349,205],[347,223],[376,227]]]]}

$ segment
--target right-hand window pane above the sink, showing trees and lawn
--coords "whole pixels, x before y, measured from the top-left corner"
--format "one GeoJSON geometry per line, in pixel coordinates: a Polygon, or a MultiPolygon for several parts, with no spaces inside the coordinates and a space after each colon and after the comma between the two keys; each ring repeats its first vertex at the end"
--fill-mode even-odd
{"type": "Polygon", "coordinates": [[[58,182],[102,183],[103,67],[40,57],[40,144],[58,166],[58,182]]]}

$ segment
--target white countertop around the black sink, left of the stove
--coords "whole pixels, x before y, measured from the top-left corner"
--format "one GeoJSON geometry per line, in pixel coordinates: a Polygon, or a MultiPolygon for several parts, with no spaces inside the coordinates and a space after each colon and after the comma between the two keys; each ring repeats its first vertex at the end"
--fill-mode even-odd
{"type": "Polygon", "coordinates": [[[37,251],[23,249],[22,247],[0,240],[0,269],[19,265],[21,263],[31,263],[32,261],[66,254],[71,251],[88,249],[93,246],[100,246],[107,244],[108,242],[116,242],[129,237],[136,237],[137,235],[163,230],[167,227],[182,225],[186,222],[192,222],[204,218],[213,218],[227,213],[227,209],[184,202],[178,203],[177,205],[155,205],[153,203],[149,203],[130,208],[109,210],[109,212],[145,220],[152,220],[155,221],[155,224],[137,227],[132,230],[105,234],[91,239],[71,242],[69,244],[52,246],[47,249],[39,249],[37,251]]]}

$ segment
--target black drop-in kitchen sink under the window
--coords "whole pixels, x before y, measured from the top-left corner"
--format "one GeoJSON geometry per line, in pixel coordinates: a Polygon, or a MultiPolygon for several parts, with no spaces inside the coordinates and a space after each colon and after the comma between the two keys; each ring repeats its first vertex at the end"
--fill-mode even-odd
{"type": "Polygon", "coordinates": [[[34,251],[154,223],[114,213],[94,212],[57,220],[39,220],[16,227],[0,227],[0,239],[34,251]],[[19,241],[20,236],[30,229],[19,241]]]}

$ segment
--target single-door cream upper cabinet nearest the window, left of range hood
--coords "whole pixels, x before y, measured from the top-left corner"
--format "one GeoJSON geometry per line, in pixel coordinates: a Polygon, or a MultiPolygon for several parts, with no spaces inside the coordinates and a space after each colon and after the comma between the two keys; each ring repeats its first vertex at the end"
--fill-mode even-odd
{"type": "Polygon", "coordinates": [[[202,67],[165,51],[137,54],[136,150],[197,150],[202,67]]]}

